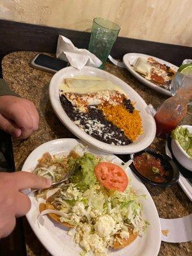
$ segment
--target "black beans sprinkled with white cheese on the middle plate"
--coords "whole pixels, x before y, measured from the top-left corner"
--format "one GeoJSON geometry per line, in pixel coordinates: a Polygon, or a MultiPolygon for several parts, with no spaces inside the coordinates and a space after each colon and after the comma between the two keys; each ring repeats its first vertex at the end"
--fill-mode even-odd
{"type": "Polygon", "coordinates": [[[93,138],[111,145],[128,145],[132,143],[125,136],[124,131],[108,121],[97,106],[88,106],[88,111],[83,113],[75,106],[72,106],[65,95],[61,95],[60,100],[65,112],[74,124],[93,138]]]}

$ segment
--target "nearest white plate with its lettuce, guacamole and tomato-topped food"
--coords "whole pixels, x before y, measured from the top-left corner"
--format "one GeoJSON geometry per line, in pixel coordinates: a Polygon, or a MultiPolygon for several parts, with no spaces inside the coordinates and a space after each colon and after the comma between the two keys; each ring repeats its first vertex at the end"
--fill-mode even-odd
{"type": "Polygon", "coordinates": [[[161,244],[157,209],[128,163],[81,141],[59,139],[33,150],[22,170],[60,180],[74,166],[67,183],[29,195],[26,217],[51,255],[156,256],[161,244]],[[113,182],[108,180],[112,174],[113,182]]]}

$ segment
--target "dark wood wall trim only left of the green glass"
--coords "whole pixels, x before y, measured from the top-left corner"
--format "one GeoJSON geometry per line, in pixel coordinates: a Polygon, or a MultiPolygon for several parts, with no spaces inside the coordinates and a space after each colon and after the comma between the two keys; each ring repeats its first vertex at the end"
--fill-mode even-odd
{"type": "Polygon", "coordinates": [[[74,44],[88,47],[90,33],[50,28],[9,20],[0,20],[0,54],[13,51],[56,52],[58,35],[65,35],[74,44]]]}

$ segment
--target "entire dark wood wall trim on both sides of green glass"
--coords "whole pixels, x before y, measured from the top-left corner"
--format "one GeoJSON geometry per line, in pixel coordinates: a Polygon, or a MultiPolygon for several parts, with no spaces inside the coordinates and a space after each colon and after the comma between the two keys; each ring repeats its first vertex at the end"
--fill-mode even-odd
{"type": "MultiPolygon", "coordinates": [[[[86,49],[90,40],[90,33],[88,32],[51,28],[9,20],[0,20],[0,32],[1,56],[13,51],[55,53],[58,35],[67,36],[77,47],[86,49]]],[[[192,47],[118,37],[111,55],[113,58],[122,58],[127,52],[151,54],[175,65],[180,65],[182,60],[186,58],[192,58],[192,47]]]]}

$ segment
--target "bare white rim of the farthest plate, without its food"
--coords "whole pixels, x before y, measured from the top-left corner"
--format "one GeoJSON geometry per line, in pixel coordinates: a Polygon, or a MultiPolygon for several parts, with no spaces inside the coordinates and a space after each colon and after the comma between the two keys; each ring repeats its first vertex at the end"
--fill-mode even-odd
{"type": "Polygon", "coordinates": [[[142,77],[140,74],[138,74],[138,72],[134,71],[132,65],[134,65],[136,63],[136,60],[141,57],[141,58],[148,58],[148,57],[152,57],[154,58],[154,60],[158,61],[159,63],[165,64],[168,67],[172,68],[175,72],[177,72],[178,67],[167,62],[164,60],[161,60],[159,58],[156,58],[154,56],[150,56],[147,54],[141,54],[141,53],[135,53],[135,52],[130,52],[124,55],[123,61],[125,66],[127,67],[127,69],[131,72],[131,74],[136,77],[141,83],[147,85],[148,87],[156,90],[157,92],[161,92],[165,95],[168,96],[172,96],[172,93],[169,90],[166,90],[164,88],[161,88],[160,86],[157,86],[156,84],[148,81],[147,79],[145,79],[144,77],[142,77]]]}

